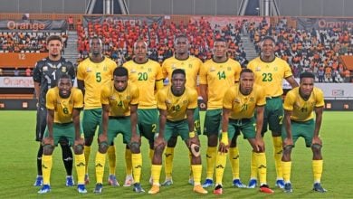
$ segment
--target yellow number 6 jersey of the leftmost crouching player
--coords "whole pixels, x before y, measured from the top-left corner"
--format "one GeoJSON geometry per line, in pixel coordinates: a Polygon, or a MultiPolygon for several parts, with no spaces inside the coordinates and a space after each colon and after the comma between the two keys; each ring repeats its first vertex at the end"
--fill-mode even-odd
{"type": "Polygon", "coordinates": [[[46,93],[46,109],[54,110],[55,123],[72,122],[72,110],[83,108],[83,94],[81,90],[72,88],[70,96],[66,99],[60,97],[59,88],[54,87],[46,93]]]}

